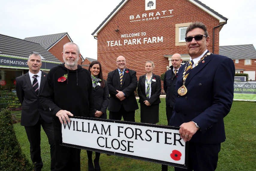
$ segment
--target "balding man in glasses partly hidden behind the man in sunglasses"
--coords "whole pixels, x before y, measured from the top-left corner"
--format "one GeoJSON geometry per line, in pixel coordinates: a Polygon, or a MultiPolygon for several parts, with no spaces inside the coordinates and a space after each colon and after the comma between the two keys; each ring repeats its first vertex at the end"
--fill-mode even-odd
{"type": "Polygon", "coordinates": [[[166,116],[169,125],[170,118],[172,116],[172,110],[174,106],[175,99],[177,97],[177,91],[175,90],[175,83],[177,81],[179,69],[181,67],[181,55],[175,53],[172,55],[172,66],[165,72],[163,79],[163,90],[166,93],[166,116]]]}

